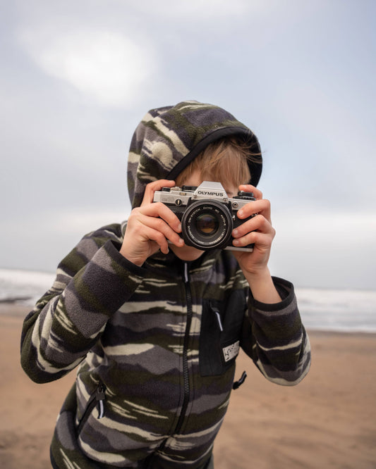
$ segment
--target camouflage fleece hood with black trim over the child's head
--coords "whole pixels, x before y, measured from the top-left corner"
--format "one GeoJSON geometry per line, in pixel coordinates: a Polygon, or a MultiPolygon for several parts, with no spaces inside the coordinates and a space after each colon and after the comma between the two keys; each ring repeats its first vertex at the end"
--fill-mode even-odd
{"type": "Polygon", "coordinates": [[[145,186],[159,179],[174,180],[205,147],[236,135],[250,144],[260,163],[248,162],[254,186],[260,180],[262,157],[253,132],[224,109],[198,101],[183,101],[149,111],[135,130],[128,157],[128,192],[132,207],[140,206],[145,186]]]}

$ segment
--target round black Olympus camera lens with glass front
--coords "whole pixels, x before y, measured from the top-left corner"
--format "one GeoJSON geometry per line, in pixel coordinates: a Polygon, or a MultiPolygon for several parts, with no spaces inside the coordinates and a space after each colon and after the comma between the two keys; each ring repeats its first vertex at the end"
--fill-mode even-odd
{"type": "Polygon", "coordinates": [[[232,227],[229,207],[218,201],[195,201],[186,208],[181,219],[186,244],[203,251],[226,247],[232,227]]]}

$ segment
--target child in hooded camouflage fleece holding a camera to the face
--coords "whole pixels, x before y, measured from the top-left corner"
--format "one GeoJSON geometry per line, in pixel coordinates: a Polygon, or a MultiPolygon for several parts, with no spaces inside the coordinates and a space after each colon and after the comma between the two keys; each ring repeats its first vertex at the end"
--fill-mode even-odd
{"type": "Polygon", "coordinates": [[[54,468],[213,467],[241,347],[261,373],[293,385],[310,346],[286,280],[267,268],[274,229],[256,189],[255,135],[217,106],[154,109],[128,159],[128,222],[83,237],[23,326],[21,362],[35,382],[78,366],[51,443],[54,468]],[[234,246],[201,251],[154,192],[221,182],[253,192],[234,246]],[[97,410],[95,410],[97,409],[97,410]]]}

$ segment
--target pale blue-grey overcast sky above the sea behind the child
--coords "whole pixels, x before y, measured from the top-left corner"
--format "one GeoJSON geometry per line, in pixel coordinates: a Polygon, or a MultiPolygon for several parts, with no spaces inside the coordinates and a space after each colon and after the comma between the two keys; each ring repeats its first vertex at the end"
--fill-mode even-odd
{"type": "Polygon", "coordinates": [[[272,273],[375,289],[375,1],[1,3],[0,267],[127,218],[135,126],[197,99],[260,140],[272,273]]]}

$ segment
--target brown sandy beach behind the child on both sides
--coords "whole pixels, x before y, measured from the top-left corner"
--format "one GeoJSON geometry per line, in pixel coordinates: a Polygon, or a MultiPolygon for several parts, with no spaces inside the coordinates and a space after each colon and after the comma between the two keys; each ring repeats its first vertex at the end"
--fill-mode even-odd
{"type": "MultiPolygon", "coordinates": [[[[0,304],[0,467],[49,468],[49,442],[74,373],[35,384],[20,368],[28,307],[0,304]]],[[[237,361],[215,469],[376,468],[376,334],[309,331],[310,373],[296,387],[268,382],[248,357],[237,361]]]]}

